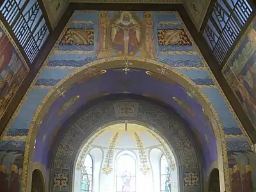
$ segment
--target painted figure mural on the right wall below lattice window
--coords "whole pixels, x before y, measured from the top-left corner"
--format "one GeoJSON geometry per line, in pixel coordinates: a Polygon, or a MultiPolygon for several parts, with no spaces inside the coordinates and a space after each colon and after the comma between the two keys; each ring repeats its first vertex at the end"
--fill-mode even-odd
{"type": "Polygon", "coordinates": [[[223,74],[256,129],[256,17],[231,54],[223,74]]]}

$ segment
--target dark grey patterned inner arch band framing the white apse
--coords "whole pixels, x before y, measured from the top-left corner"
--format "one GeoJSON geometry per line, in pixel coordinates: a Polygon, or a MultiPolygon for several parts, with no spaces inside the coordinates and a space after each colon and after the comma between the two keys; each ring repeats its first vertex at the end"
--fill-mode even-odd
{"type": "MultiPolygon", "coordinates": [[[[83,112],[80,113],[76,120],[72,117],[73,122],[70,122],[67,129],[63,129],[63,132],[60,133],[62,137],[59,138],[59,144],[54,145],[56,149],[52,152],[55,155],[52,157],[51,177],[56,174],[67,177],[72,175],[73,169],[70,167],[74,165],[76,161],[74,157],[76,157],[78,148],[83,145],[86,138],[94,140],[93,134],[96,132],[100,134],[100,131],[104,131],[102,126],[116,121],[128,120],[136,122],[136,124],[146,125],[152,135],[158,134],[173,148],[180,168],[180,191],[202,191],[201,163],[198,159],[195,141],[193,137],[191,138],[191,133],[187,132],[188,128],[172,113],[141,100],[102,101],[91,108],[83,109],[83,112]],[[122,107],[120,105],[127,104],[138,108],[121,115],[122,107]],[[121,111],[116,111],[116,105],[121,107],[119,108],[121,111]],[[99,116],[99,118],[89,120],[92,116],[99,116]]],[[[52,191],[63,189],[70,191],[71,188],[72,183],[69,182],[63,188],[61,186],[52,188],[52,191]]]]}

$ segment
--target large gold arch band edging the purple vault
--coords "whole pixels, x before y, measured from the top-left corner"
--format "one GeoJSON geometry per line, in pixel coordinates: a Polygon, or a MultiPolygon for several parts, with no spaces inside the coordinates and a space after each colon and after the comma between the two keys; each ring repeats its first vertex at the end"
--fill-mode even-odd
{"type": "MultiPolygon", "coordinates": [[[[163,77],[166,81],[166,79],[169,81],[176,81],[177,83],[184,86],[184,88],[188,89],[188,92],[192,93],[193,97],[195,97],[196,100],[201,104],[201,106],[204,107],[204,111],[209,116],[210,123],[214,129],[214,134],[216,136],[217,140],[217,147],[218,147],[218,163],[221,173],[221,178],[224,178],[223,182],[221,182],[221,190],[229,190],[229,175],[228,175],[228,165],[227,165],[227,152],[226,152],[226,141],[225,136],[223,132],[223,127],[220,122],[220,118],[217,115],[215,109],[213,108],[211,102],[207,97],[202,93],[202,91],[196,87],[195,83],[193,83],[190,79],[182,75],[180,72],[177,72],[175,68],[170,67],[164,63],[161,63],[159,61],[150,60],[150,59],[143,59],[143,58],[135,58],[135,57],[127,57],[125,60],[132,61],[134,65],[132,67],[137,68],[144,68],[148,70],[149,73],[154,72],[159,74],[159,76],[163,77]],[[193,89],[191,89],[191,87],[193,89]],[[227,189],[226,189],[227,187],[227,189]]],[[[29,161],[33,161],[33,145],[35,143],[36,133],[38,131],[38,128],[40,127],[40,124],[42,124],[42,120],[44,118],[44,115],[47,113],[47,109],[49,109],[49,106],[51,106],[52,102],[57,97],[60,97],[60,93],[65,92],[65,90],[68,89],[68,87],[71,86],[74,82],[79,79],[79,77],[87,77],[90,79],[90,77],[95,76],[97,73],[103,72],[103,70],[108,70],[109,68],[116,68],[120,67],[120,62],[124,61],[123,57],[116,57],[116,58],[106,58],[104,60],[97,60],[93,61],[92,63],[88,65],[84,65],[83,67],[77,69],[74,72],[71,72],[68,76],[64,77],[52,90],[47,93],[44,100],[42,100],[40,106],[38,106],[38,110],[35,113],[35,116],[31,122],[29,133],[28,133],[28,139],[26,142],[26,150],[25,150],[25,157],[29,159],[29,161]]],[[[25,159],[26,159],[25,158],[25,159]]],[[[28,161],[24,161],[24,168],[23,172],[24,174],[24,182],[22,182],[22,188],[26,189],[29,186],[26,186],[26,172],[28,170],[31,171],[31,168],[29,167],[28,161]]],[[[27,182],[28,183],[28,182],[27,182]]]]}

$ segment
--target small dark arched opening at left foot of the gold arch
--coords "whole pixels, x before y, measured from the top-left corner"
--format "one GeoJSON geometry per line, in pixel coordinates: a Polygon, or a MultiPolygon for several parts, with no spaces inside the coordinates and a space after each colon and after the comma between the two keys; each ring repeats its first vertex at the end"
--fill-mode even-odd
{"type": "Polygon", "coordinates": [[[44,175],[38,169],[35,169],[32,173],[31,192],[46,192],[44,175]]]}

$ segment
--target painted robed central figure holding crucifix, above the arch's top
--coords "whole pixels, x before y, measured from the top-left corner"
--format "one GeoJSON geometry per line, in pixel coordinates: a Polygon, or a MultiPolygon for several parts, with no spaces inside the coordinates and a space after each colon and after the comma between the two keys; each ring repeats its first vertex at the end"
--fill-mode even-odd
{"type": "Polygon", "coordinates": [[[136,30],[140,28],[140,25],[134,24],[131,17],[131,13],[123,12],[120,22],[112,24],[112,27],[116,28],[113,45],[115,49],[125,55],[132,54],[140,44],[136,35],[136,30]]]}

